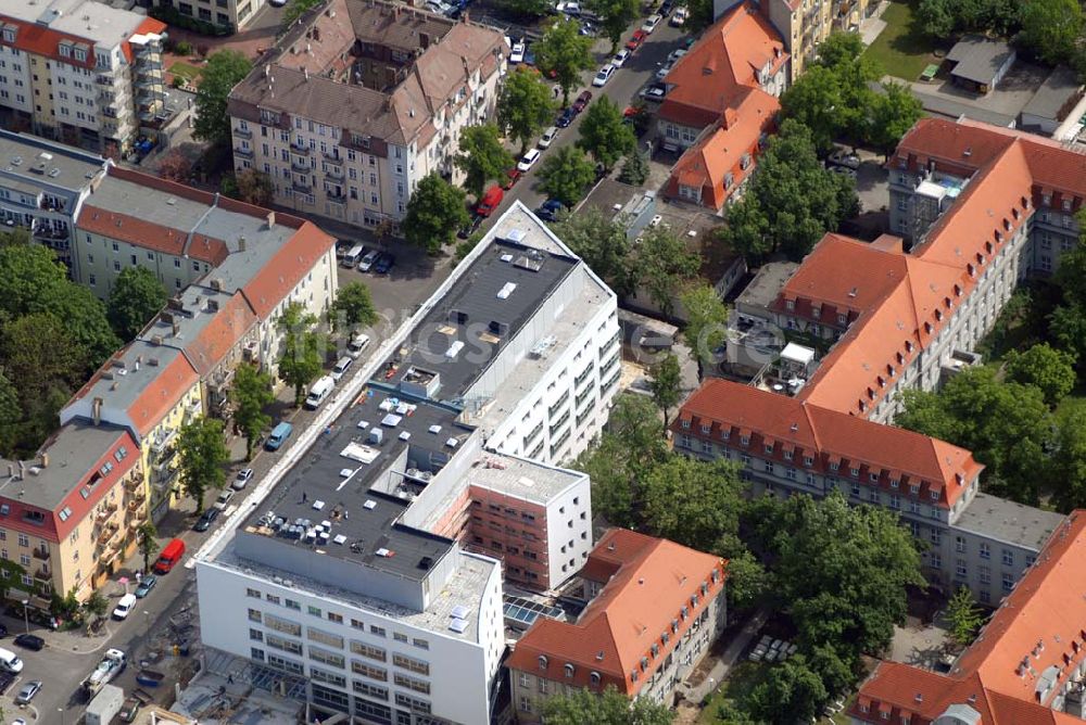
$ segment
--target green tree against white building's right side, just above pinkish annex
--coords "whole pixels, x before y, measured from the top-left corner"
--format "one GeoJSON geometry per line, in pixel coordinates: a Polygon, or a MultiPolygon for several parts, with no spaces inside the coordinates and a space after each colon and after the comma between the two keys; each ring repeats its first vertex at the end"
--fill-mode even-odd
{"type": "Polygon", "coordinates": [[[670,455],[653,402],[643,395],[615,398],[607,427],[573,467],[592,480],[593,510],[616,526],[640,529],[643,481],[670,455]]]}

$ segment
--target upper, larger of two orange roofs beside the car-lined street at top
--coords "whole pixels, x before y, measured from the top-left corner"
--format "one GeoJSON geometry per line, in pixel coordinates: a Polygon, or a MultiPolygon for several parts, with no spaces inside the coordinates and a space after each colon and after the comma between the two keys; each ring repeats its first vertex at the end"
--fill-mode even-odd
{"type": "Polygon", "coordinates": [[[683,55],[666,82],[672,86],[659,117],[683,126],[705,127],[734,107],[744,88],[760,88],[758,72],[775,74],[788,54],[773,26],[753,5],[742,4],[706,30],[683,55]]]}

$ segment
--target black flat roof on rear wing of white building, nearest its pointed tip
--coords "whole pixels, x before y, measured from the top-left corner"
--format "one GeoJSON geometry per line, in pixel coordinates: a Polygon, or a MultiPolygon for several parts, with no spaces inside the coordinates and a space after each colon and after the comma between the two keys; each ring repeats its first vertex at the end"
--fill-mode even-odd
{"type": "Polygon", "coordinates": [[[378,372],[399,384],[412,367],[437,372],[435,397],[463,403],[471,383],[531,319],[578,260],[495,239],[378,372]],[[506,294],[507,293],[507,294],[506,294]],[[457,351],[453,347],[456,343],[457,351]]]}

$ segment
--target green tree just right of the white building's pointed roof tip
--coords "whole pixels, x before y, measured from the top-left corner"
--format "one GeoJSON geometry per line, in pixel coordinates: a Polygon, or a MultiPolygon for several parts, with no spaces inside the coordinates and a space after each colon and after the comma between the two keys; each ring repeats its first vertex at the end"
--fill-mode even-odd
{"type": "Polygon", "coordinates": [[[604,217],[597,208],[570,215],[554,225],[555,233],[623,297],[634,288],[632,245],[622,225],[604,217]]]}

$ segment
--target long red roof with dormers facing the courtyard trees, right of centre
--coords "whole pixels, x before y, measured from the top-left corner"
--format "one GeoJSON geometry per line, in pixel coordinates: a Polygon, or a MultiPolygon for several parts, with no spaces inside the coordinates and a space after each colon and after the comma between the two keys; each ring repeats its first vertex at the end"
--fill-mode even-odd
{"type": "Polygon", "coordinates": [[[864,485],[872,484],[870,473],[877,473],[887,493],[911,494],[910,486],[917,484],[919,497],[931,503],[934,494],[940,506],[952,506],[983,469],[970,451],[937,438],[718,379],[707,380],[690,396],[671,430],[782,462],[783,448],[791,447],[797,468],[842,480],[857,469],[864,485]],[[743,436],[749,438],[746,446],[743,436]],[[770,443],[773,453],[767,454],[770,443]],[[804,461],[808,457],[809,467],[804,461]]]}

